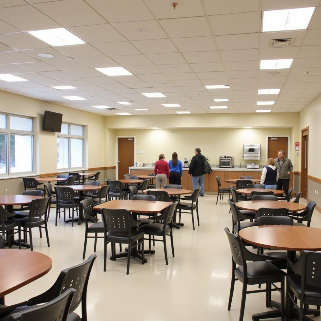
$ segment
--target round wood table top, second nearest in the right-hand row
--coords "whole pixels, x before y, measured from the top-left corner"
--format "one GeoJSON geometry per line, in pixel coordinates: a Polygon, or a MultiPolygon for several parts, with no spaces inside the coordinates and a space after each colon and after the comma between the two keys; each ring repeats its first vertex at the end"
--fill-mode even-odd
{"type": "Polygon", "coordinates": [[[288,208],[290,212],[302,211],[305,205],[285,201],[242,201],[235,203],[241,210],[258,211],[259,208],[288,208]]]}

